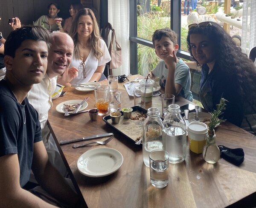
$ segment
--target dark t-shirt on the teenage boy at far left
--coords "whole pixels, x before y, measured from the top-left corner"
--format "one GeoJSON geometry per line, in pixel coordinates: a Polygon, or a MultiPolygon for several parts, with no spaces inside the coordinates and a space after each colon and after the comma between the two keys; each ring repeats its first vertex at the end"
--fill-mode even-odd
{"type": "Polygon", "coordinates": [[[20,186],[29,181],[33,145],[42,140],[38,113],[25,98],[19,104],[5,80],[0,81],[0,156],[17,154],[20,186]]]}

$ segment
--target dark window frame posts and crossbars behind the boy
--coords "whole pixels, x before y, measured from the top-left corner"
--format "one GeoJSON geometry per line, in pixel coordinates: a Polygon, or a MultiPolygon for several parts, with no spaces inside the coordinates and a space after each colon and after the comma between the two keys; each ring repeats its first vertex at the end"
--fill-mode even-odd
{"type": "MultiPolygon", "coordinates": [[[[145,40],[137,37],[137,0],[130,0],[130,73],[138,73],[137,44],[142,44],[154,48],[151,40],[145,40]]],[[[180,32],[181,32],[181,0],[170,0],[171,6],[171,25],[170,28],[178,34],[177,56],[187,60],[191,59],[189,52],[180,49],[180,32]]]]}

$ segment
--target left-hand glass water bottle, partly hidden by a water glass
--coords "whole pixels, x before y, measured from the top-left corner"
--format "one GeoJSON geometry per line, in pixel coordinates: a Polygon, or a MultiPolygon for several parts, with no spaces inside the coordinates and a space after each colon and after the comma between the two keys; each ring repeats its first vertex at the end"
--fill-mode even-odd
{"type": "Polygon", "coordinates": [[[156,107],[148,108],[147,118],[143,123],[143,161],[149,167],[149,153],[153,150],[165,150],[165,128],[156,107]]]}

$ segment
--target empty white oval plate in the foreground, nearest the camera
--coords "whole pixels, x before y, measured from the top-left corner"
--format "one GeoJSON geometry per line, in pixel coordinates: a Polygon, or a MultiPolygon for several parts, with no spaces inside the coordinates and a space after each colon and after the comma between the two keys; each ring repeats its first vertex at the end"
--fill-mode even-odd
{"type": "Polygon", "coordinates": [[[90,177],[108,176],[116,172],[123,162],[122,154],[112,148],[99,147],[83,153],[77,160],[80,173],[90,177]]]}

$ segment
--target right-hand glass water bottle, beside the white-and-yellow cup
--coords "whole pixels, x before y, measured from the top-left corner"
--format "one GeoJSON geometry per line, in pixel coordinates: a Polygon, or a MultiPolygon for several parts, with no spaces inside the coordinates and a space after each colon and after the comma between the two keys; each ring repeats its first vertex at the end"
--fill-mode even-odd
{"type": "Polygon", "coordinates": [[[182,162],[186,158],[186,124],[180,114],[180,106],[169,105],[163,124],[169,162],[173,164],[182,162]]]}

